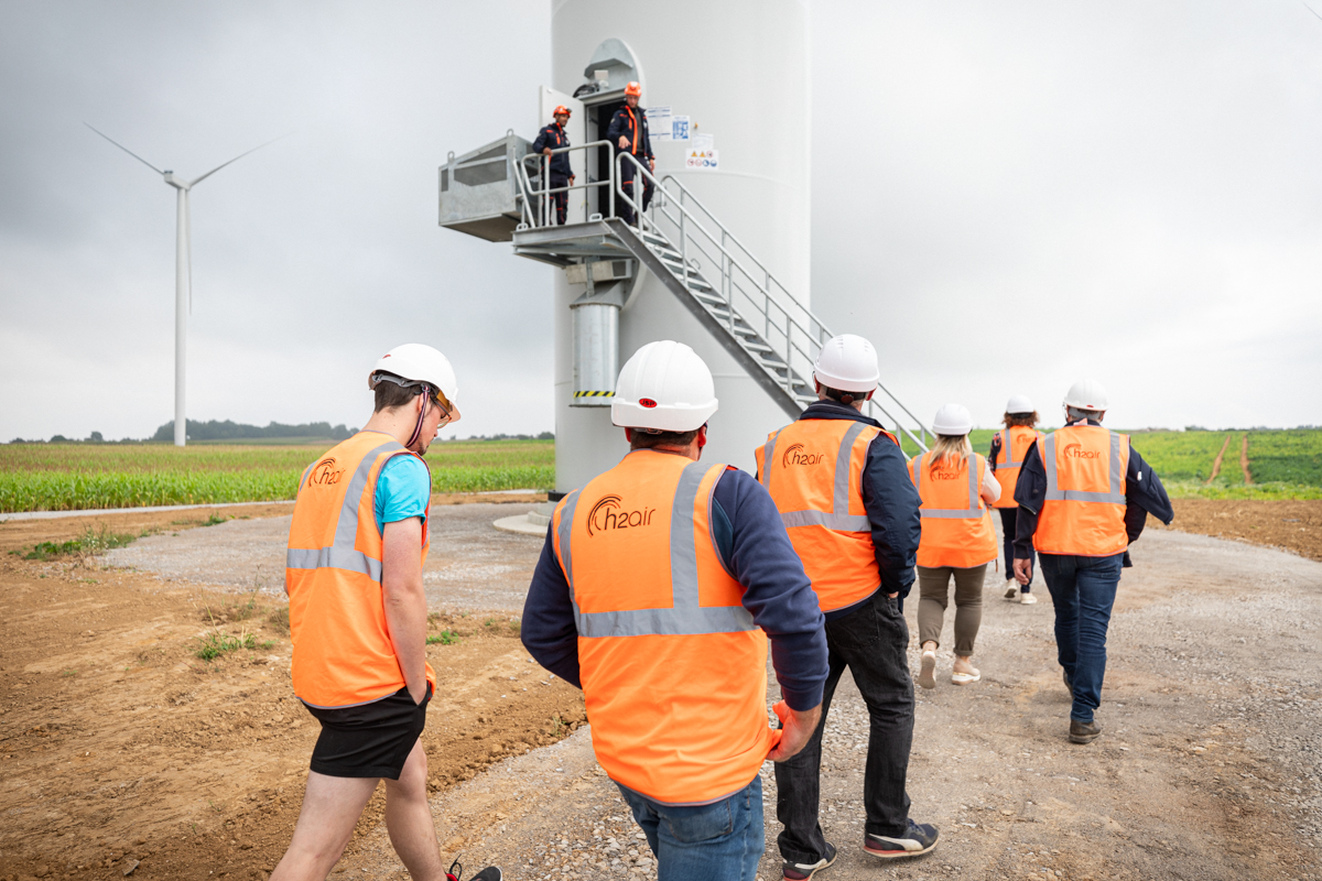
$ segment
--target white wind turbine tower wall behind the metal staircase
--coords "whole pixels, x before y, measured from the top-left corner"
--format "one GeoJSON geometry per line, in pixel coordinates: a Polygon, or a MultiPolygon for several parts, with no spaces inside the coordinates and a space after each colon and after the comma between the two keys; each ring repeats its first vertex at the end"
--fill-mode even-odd
{"type": "MultiPolygon", "coordinates": [[[[804,306],[810,259],[808,28],[808,4],[796,0],[559,0],[551,12],[553,87],[574,94],[598,46],[623,41],[642,85],[640,106],[669,106],[689,116],[695,133],[711,135],[719,152],[719,170],[686,170],[685,144],[661,143],[653,133],[657,178],[682,181],[804,306]]],[[[628,452],[608,407],[570,405],[570,302],[582,293],[582,285],[555,273],[555,483],[562,493],[628,452]]],[[[720,409],[711,417],[703,461],[754,472],[754,448],[789,417],[642,269],[620,312],[619,363],[644,343],[668,338],[691,346],[715,376],[720,409]]]]}

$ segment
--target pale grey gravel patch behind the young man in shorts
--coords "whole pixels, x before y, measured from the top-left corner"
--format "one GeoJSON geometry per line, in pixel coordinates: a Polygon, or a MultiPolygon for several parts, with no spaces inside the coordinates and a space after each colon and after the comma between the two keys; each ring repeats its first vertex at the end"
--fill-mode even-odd
{"type": "MultiPolygon", "coordinates": [[[[431,551],[423,582],[432,609],[522,612],[542,539],[492,527],[497,518],[522,510],[518,505],[483,503],[431,509],[431,551]]],[[[288,516],[227,520],[139,539],[111,551],[106,561],[167,580],[246,590],[260,586],[279,593],[284,589],[288,538],[288,516]]]]}

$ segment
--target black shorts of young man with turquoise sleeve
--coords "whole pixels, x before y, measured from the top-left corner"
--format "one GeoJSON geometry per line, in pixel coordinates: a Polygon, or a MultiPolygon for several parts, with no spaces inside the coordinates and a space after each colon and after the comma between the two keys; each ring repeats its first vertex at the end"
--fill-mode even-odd
{"type": "Polygon", "coordinates": [[[427,726],[431,683],[420,704],[408,688],[358,707],[324,709],[308,707],[321,722],[321,736],[312,748],[311,767],[327,777],[385,777],[398,781],[405,761],[427,726]]]}

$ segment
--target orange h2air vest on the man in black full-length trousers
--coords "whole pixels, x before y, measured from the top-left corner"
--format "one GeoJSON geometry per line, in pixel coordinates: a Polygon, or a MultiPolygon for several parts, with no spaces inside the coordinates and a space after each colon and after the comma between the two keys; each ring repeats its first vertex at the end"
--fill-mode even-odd
{"type": "Polygon", "coordinates": [[[800,419],[754,450],[758,479],[771,493],[822,612],[876,593],[873,524],[863,507],[867,449],[890,432],[846,419],[800,419]]]}

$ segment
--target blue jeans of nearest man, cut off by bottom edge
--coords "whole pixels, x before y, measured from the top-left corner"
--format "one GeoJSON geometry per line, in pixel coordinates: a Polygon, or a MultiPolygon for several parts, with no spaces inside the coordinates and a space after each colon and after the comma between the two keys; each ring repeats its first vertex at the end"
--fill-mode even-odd
{"type": "MultiPolygon", "coordinates": [[[[616,783],[619,786],[619,783],[616,783]]],[[[660,881],[754,881],[765,845],[761,777],[730,798],[674,807],[620,786],[648,847],[660,881]]]]}

